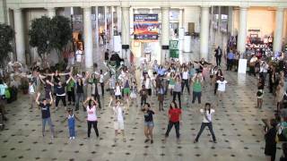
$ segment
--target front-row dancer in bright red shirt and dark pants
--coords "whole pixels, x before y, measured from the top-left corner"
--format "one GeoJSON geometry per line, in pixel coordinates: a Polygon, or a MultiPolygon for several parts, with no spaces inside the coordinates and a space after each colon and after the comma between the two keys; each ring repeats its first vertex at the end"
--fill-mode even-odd
{"type": "Polygon", "coordinates": [[[174,125],[177,133],[177,139],[179,141],[179,122],[181,122],[181,109],[178,108],[176,102],[170,103],[170,110],[169,110],[169,125],[168,130],[165,132],[165,140],[169,137],[170,130],[174,125]]]}

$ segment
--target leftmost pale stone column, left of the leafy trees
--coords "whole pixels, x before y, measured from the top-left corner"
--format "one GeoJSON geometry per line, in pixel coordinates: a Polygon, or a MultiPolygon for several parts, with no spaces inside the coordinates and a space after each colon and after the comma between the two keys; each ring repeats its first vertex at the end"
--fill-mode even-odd
{"type": "Polygon", "coordinates": [[[14,9],[14,30],[17,61],[26,64],[22,9],[14,9]]]}

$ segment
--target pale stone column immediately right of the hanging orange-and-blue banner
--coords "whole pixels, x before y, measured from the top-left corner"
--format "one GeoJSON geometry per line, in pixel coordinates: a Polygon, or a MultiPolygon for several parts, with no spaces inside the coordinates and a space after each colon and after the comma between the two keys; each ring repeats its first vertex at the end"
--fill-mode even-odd
{"type": "MultiPolygon", "coordinates": [[[[161,7],[161,47],[170,46],[170,7],[161,7]]],[[[161,59],[158,61],[164,64],[169,58],[169,50],[161,49],[161,59]]]]}

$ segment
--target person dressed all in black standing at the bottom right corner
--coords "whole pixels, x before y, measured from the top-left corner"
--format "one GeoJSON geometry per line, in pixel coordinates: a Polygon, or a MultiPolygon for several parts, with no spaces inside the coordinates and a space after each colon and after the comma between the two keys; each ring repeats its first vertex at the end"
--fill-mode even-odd
{"type": "Polygon", "coordinates": [[[275,119],[270,120],[271,129],[269,129],[265,134],[265,155],[271,157],[271,161],[275,160],[276,157],[276,125],[275,119]]]}

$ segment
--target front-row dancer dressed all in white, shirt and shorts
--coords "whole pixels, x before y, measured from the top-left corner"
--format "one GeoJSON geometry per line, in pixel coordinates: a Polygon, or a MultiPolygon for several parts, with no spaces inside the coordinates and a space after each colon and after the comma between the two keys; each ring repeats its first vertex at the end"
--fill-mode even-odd
{"type": "Polygon", "coordinates": [[[114,128],[115,128],[115,141],[117,141],[118,131],[121,131],[123,141],[126,142],[124,130],[124,107],[121,106],[120,100],[117,100],[116,106],[113,107],[114,112],[114,128]]]}

